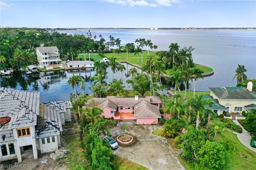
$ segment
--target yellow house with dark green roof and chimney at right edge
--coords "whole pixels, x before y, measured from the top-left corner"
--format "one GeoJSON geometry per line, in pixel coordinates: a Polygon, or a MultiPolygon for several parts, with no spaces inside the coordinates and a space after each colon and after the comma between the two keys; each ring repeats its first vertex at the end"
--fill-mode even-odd
{"type": "Polygon", "coordinates": [[[252,82],[244,87],[211,87],[210,95],[218,99],[219,104],[227,108],[229,113],[250,112],[256,108],[256,94],[252,91],[252,82]]]}

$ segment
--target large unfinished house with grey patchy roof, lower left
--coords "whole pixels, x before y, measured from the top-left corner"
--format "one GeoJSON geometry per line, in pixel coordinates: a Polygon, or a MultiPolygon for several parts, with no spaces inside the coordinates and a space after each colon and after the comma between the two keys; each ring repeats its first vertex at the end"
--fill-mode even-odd
{"type": "Polygon", "coordinates": [[[60,148],[62,124],[71,121],[70,101],[39,104],[39,92],[0,89],[0,161],[22,161],[24,151],[53,152],[60,148]]]}

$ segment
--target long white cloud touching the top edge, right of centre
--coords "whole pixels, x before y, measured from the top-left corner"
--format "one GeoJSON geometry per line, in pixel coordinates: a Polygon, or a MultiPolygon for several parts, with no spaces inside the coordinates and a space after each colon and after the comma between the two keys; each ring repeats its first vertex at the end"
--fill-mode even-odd
{"type": "Polygon", "coordinates": [[[103,0],[109,3],[130,5],[130,6],[171,6],[172,3],[179,3],[179,0],[103,0]]]}

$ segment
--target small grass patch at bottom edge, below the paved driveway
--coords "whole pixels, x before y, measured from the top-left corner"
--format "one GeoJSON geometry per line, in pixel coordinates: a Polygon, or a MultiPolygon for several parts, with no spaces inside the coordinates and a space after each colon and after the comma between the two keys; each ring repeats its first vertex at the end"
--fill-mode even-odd
{"type": "Polygon", "coordinates": [[[117,170],[132,170],[132,169],[137,169],[137,170],[146,170],[146,167],[143,167],[139,164],[133,163],[130,160],[114,156],[114,162],[117,170]]]}

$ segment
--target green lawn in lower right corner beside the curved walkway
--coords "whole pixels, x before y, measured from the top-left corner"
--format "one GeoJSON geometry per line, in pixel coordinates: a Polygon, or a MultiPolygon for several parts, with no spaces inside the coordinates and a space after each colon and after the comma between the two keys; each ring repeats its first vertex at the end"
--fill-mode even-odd
{"type": "Polygon", "coordinates": [[[246,148],[237,139],[237,135],[235,133],[223,131],[221,134],[217,135],[217,140],[224,139],[231,141],[235,147],[235,151],[228,154],[230,160],[230,169],[243,170],[256,168],[256,152],[246,148]]]}

